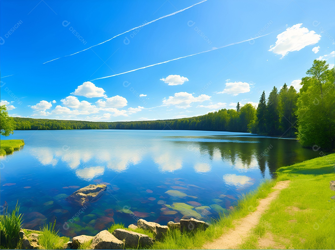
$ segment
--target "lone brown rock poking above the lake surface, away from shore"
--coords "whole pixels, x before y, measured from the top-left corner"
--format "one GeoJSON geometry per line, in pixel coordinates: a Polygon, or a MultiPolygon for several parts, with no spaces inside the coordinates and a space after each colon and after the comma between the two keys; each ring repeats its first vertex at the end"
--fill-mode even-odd
{"type": "Polygon", "coordinates": [[[69,203],[74,205],[87,205],[90,202],[94,202],[97,200],[103,192],[106,190],[105,184],[91,184],[86,187],[80,188],[79,190],[75,191],[69,197],[65,198],[69,203]]]}

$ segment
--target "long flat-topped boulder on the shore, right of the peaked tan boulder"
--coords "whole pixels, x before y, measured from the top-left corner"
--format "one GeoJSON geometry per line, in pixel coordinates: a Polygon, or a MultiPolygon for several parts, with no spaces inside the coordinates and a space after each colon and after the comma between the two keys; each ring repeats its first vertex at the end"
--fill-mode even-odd
{"type": "Polygon", "coordinates": [[[153,239],[145,234],[139,234],[124,229],[115,229],[113,235],[119,240],[125,240],[126,248],[149,248],[153,245],[153,239]]]}

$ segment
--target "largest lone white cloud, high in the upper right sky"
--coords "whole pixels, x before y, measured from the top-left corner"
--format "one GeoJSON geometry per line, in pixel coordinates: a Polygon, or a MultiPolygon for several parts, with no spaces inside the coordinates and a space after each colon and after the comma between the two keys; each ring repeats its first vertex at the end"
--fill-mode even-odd
{"type": "Polygon", "coordinates": [[[297,23],[278,34],[276,44],[271,45],[269,51],[281,55],[281,58],[283,58],[289,52],[299,51],[308,45],[318,43],[321,35],[316,34],[314,30],[309,31],[308,28],[300,28],[301,25],[302,23],[297,23]]]}

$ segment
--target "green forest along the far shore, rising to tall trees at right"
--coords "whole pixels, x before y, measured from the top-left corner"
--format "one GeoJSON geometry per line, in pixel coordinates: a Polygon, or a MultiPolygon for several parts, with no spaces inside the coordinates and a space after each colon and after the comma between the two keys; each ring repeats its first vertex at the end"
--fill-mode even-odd
{"type": "Polygon", "coordinates": [[[335,148],[335,68],[314,60],[302,78],[302,88],[273,87],[260,96],[258,107],[237,103],[236,109],[220,109],[205,115],[150,121],[93,122],[14,117],[16,130],[205,130],[250,132],[278,137],[296,137],[305,147],[335,148]]]}

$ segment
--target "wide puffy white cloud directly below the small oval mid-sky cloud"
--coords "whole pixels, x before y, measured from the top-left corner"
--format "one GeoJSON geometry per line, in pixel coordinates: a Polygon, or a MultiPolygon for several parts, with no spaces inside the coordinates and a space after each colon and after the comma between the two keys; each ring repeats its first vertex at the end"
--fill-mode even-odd
{"type": "Polygon", "coordinates": [[[175,93],[174,96],[169,96],[169,99],[164,99],[162,106],[175,105],[178,108],[191,107],[192,102],[203,102],[210,100],[210,96],[202,94],[198,97],[194,97],[192,94],[187,92],[175,93]]]}

